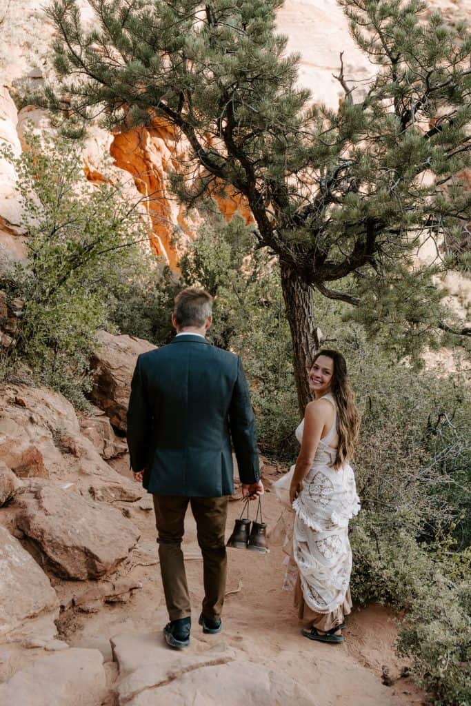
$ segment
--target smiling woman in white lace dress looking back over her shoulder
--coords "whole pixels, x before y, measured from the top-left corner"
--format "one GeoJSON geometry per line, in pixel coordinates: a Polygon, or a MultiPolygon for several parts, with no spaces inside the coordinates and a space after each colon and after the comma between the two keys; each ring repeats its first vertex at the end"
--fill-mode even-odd
{"type": "Polygon", "coordinates": [[[301,443],[296,465],[275,486],[279,494],[289,488],[295,513],[288,572],[297,573],[295,604],[299,617],[310,623],[302,634],[311,640],[342,642],[344,617],[352,609],[348,521],[359,512],[349,465],[359,415],[342,354],[319,352],[309,371],[309,387],[314,400],[296,430],[301,443]]]}

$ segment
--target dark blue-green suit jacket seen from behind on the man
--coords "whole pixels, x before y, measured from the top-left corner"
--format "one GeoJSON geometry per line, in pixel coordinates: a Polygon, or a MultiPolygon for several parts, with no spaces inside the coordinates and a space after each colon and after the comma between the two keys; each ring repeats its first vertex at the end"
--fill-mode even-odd
{"type": "Polygon", "coordinates": [[[138,357],[128,410],[131,467],[157,495],[234,492],[259,479],[254,413],[238,356],[194,334],[138,357]]]}

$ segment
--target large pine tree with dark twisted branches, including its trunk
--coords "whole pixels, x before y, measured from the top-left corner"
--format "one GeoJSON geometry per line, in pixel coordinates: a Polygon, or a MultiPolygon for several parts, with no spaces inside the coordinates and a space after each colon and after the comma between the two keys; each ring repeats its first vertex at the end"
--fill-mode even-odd
{"type": "Polygon", "coordinates": [[[411,258],[420,240],[459,242],[470,217],[458,177],[471,149],[465,26],[425,20],[419,0],[340,0],[376,71],[358,100],[340,55],[345,100],[334,112],[297,88],[299,57],[275,32],[282,0],[89,2],[89,32],[76,0],[49,7],[68,116],[121,129],[163,117],[189,145],[180,198],[192,205],[229,186],[246,200],[254,237],[280,263],[302,409],[319,344],[313,289],[358,307],[371,328],[389,312],[404,352],[453,330],[432,278],[459,255],[417,272],[411,258]]]}

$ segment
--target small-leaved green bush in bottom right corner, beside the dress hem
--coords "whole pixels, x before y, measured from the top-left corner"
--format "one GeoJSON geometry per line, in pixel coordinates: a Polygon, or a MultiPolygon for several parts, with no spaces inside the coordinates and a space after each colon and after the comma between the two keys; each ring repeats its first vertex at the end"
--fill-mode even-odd
{"type": "Polygon", "coordinates": [[[447,537],[418,544],[416,523],[410,511],[363,510],[352,521],[352,596],[405,609],[398,652],[412,659],[416,681],[437,706],[469,706],[471,550],[448,551],[454,540],[447,537]]]}

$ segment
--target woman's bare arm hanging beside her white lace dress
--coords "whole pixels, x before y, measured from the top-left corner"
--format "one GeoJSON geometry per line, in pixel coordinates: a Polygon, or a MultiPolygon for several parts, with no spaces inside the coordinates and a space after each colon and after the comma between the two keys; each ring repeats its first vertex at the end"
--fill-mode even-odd
{"type": "Polygon", "coordinates": [[[302,443],[290,486],[290,503],[302,491],[302,481],[309,473],[322,432],[330,429],[333,419],[333,407],[327,400],[314,400],[306,406],[302,443]]]}

